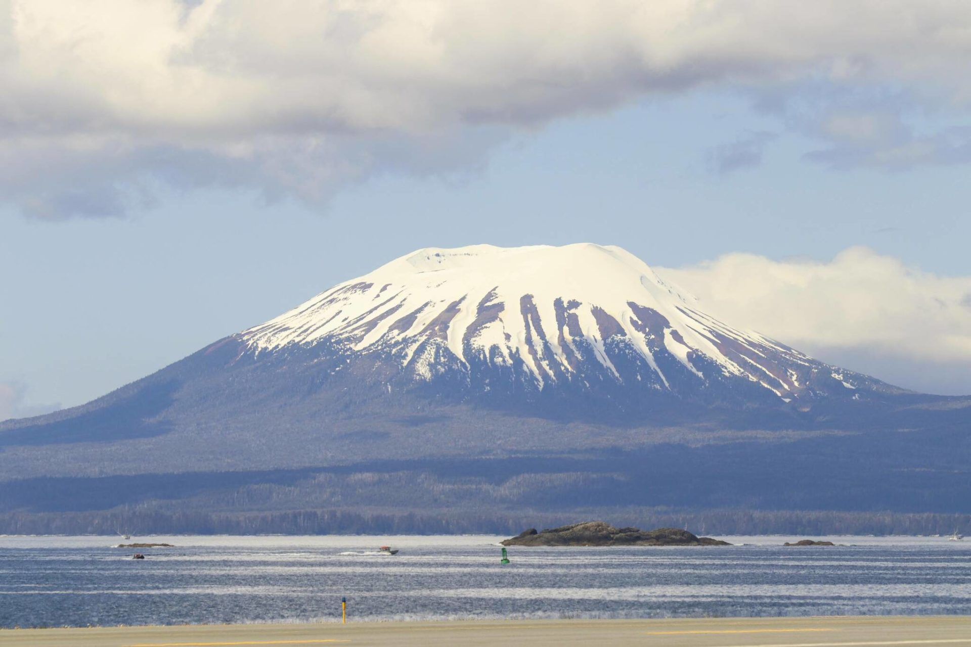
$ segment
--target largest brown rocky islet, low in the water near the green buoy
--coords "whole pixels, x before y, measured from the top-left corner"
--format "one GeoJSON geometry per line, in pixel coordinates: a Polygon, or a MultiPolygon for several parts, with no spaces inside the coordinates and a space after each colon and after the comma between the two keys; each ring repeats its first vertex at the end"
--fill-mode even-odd
{"type": "Polygon", "coordinates": [[[727,541],[699,537],[677,528],[642,531],[585,521],[537,533],[530,529],[501,542],[504,546],[730,546],[727,541]]]}

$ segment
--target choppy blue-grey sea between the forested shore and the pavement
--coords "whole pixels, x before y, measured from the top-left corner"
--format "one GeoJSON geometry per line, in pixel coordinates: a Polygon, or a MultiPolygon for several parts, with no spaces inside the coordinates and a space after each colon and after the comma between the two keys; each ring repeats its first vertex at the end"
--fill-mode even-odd
{"type": "MultiPolygon", "coordinates": [[[[522,548],[497,536],[0,536],[0,628],[966,614],[971,540],[721,537],[725,547],[522,548]],[[375,554],[381,545],[399,549],[375,554]],[[145,560],[133,560],[135,551],[145,560]]],[[[815,537],[822,538],[822,537],[815,537]]]]}

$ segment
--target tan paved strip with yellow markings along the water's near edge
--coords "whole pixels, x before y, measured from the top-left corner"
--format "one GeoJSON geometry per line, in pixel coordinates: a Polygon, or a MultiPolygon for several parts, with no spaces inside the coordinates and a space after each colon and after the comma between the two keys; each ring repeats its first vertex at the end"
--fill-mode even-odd
{"type": "Polygon", "coordinates": [[[0,631],[6,647],[277,645],[653,645],[880,647],[968,645],[971,616],[540,620],[300,625],[195,625],[0,631]]]}

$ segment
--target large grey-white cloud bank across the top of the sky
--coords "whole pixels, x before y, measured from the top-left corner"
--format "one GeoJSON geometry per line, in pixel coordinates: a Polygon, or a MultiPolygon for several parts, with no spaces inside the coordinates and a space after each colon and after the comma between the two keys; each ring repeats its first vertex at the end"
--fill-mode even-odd
{"type": "MultiPolygon", "coordinates": [[[[42,217],[117,214],[158,182],[319,201],[716,83],[889,83],[964,113],[969,53],[964,0],[0,0],[0,190],[42,217]]],[[[930,160],[925,139],[887,163],[930,160]]]]}

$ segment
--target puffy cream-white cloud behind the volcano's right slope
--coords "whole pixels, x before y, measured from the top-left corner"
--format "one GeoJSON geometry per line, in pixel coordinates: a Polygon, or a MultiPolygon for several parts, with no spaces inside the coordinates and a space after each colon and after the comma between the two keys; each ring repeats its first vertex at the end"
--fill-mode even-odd
{"type": "Polygon", "coordinates": [[[658,272],[725,322],[902,386],[971,393],[971,276],[866,247],[828,262],[733,253],[658,272]]]}

